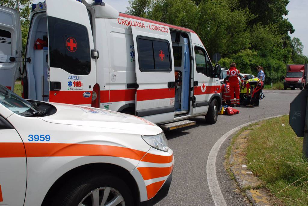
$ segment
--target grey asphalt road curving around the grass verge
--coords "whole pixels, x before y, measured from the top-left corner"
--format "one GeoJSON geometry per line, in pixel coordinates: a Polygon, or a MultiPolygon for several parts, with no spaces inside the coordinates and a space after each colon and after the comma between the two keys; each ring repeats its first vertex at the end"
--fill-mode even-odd
{"type": "MultiPolygon", "coordinates": [[[[193,118],[195,126],[166,132],[169,147],[174,152],[173,180],[168,196],[159,205],[215,206],[206,176],[206,163],[215,142],[229,130],[244,123],[289,114],[291,101],[299,90],[263,90],[265,98],[259,107],[240,107],[233,116],[219,115],[216,124],[208,125],[204,117],[193,118]]],[[[223,163],[230,139],[222,145],[216,158],[217,180],[227,205],[250,205],[236,192],[236,185],[226,173],[223,163]]]]}

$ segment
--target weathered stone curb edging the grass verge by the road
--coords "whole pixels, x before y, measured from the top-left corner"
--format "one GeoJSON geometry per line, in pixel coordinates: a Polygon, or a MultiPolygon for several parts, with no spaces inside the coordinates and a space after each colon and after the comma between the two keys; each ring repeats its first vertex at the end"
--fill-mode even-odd
{"type": "MultiPolygon", "coordinates": [[[[281,116],[282,115],[265,118],[254,121],[253,123],[281,116]]],[[[256,127],[258,126],[259,125],[256,127]]],[[[229,157],[229,167],[238,186],[241,190],[245,190],[245,194],[253,206],[272,205],[271,203],[275,202],[277,199],[274,196],[270,196],[265,188],[262,188],[262,181],[260,181],[259,178],[256,177],[249,169],[247,169],[245,165],[244,149],[247,146],[247,137],[250,132],[251,130],[244,130],[235,141],[229,157]]],[[[233,136],[233,134],[229,137],[233,136]]]]}

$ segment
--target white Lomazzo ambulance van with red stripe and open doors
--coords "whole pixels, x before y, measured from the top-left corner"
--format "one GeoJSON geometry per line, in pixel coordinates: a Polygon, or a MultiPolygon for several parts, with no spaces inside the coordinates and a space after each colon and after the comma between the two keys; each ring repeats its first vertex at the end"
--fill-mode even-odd
{"type": "Polygon", "coordinates": [[[134,114],[169,130],[195,124],[186,120],[193,116],[217,120],[220,66],[190,29],[119,13],[102,0],[47,0],[33,5],[21,68],[19,15],[2,6],[0,19],[11,37],[3,43],[11,51],[0,49],[0,82],[13,89],[23,75],[26,99],[134,114]]]}

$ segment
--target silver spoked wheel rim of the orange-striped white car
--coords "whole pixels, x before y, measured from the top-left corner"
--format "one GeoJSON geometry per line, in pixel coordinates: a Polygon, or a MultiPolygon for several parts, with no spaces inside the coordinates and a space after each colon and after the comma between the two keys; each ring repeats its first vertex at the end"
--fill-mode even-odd
{"type": "Polygon", "coordinates": [[[118,190],[100,187],[89,192],[78,206],[125,206],[125,202],[118,190]]]}

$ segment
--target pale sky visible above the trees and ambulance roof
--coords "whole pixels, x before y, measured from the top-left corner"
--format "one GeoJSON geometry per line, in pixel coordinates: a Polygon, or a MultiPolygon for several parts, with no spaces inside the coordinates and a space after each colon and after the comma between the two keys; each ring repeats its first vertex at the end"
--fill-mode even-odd
{"type": "MultiPolygon", "coordinates": [[[[43,0],[42,0],[43,1],[43,0]]],[[[38,2],[35,0],[34,2],[38,2]]],[[[110,4],[116,10],[125,13],[128,7],[128,0],[103,0],[103,2],[110,4]]],[[[286,18],[289,19],[295,32],[290,36],[298,37],[304,46],[303,54],[308,56],[308,0],[290,0],[287,5],[289,14],[286,18]]]]}

